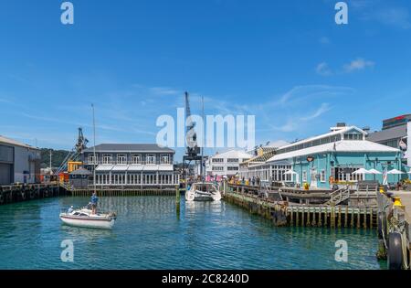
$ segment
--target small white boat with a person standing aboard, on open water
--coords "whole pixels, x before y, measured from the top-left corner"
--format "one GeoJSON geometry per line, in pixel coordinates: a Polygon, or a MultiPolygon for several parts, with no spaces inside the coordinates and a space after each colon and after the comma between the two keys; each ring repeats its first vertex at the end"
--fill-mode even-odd
{"type": "Polygon", "coordinates": [[[73,209],[72,211],[61,212],[60,219],[63,223],[83,228],[111,229],[117,219],[115,213],[92,214],[89,208],[73,209]]]}

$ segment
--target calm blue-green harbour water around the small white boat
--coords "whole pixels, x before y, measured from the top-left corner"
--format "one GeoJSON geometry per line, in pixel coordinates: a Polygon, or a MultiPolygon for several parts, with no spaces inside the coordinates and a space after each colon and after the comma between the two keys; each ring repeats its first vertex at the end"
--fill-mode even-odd
{"type": "Polygon", "coordinates": [[[112,230],[61,224],[61,208],[88,202],[0,207],[0,269],[385,269],[374,230],[276,228],[224,201],[183,197],[180,217],[174,197],[102,197],[100,206],[118,214],[112,230]],[[60,260],[62,240],[73,240],[74,262],[60,260]],[[348,242],[348,262],[334,261],[336,240],[348,242]]]}

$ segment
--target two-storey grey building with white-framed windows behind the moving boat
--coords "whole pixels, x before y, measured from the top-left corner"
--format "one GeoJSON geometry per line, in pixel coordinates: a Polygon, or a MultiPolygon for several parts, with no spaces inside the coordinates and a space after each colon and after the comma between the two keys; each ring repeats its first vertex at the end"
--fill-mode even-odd
{"type": "Polygon", "coordinates": [[[174,153],[157,144],[100,144],[84,150],[81,156],[91,173],[96,167],[97,186],[166,187],[180,182],[174,172],[174,153]]]}

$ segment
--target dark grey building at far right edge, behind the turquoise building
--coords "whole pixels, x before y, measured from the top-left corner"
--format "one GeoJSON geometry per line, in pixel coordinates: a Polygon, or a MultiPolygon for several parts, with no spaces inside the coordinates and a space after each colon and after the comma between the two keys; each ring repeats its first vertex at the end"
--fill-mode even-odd
{"type": "Polygon", "coordinates": [[[401,115],[383,121],[383,129],[369,133],[367,140],[378,144],[398,148],[404,152],[403,163],[411,166],[411,149],[408,139],[411,137],[411,114],[401,115]]]}

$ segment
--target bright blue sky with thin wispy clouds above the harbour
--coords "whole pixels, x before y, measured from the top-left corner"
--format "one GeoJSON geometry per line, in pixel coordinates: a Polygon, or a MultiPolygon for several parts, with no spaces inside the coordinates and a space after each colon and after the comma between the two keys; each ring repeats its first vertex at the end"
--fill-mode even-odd
{"type": "Polygon", "coordinates": [[[332,0],[77,0],[73,26],[62,2],[0,0],[0,134],[69,149],[94,102],[98,143],[155,142],[184,91],[256,115],[258,144],[411,112],[406,0],[346,1],[346,26],[332,0]]]}

